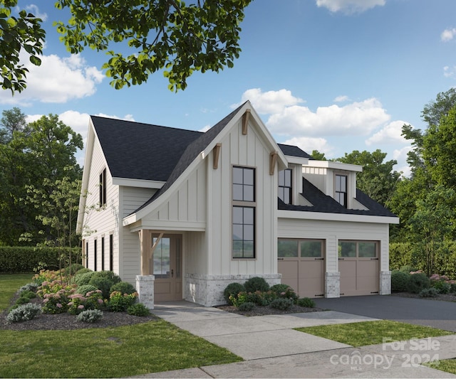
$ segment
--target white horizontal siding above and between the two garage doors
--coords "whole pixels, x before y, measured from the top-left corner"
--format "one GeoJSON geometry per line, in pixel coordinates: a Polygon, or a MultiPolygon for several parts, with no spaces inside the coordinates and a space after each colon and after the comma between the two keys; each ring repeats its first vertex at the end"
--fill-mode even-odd
{"type": "Polygon", "coordinates": [[[349,221],[279,218],[279,238],[325,240],[326,272],[338,272],[338,241],[380,242],[380,271],[388,271],[389,225],[349,221]]]}

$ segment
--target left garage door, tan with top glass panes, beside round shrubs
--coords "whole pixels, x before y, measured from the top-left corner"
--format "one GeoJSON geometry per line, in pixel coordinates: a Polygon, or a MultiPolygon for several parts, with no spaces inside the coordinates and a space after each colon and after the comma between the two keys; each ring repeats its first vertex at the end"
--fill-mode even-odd
{"type": "Polygon", "coordinates": [[[281,283],[299,297],[324,296],[324,241],[279,239],[278,270],[281,283]]]}

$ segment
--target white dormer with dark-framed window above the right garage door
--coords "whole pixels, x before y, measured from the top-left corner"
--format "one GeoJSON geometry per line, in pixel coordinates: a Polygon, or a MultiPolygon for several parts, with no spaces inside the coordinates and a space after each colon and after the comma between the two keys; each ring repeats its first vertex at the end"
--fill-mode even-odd
{"type": "Polygon", "coordinates": [[[331,196],[344,208],[366,210],[356,200],[356,173],[362,171],[362,166],[335,161],[309,160],[302,166],[303,177],[326,196],[331,196]]]}

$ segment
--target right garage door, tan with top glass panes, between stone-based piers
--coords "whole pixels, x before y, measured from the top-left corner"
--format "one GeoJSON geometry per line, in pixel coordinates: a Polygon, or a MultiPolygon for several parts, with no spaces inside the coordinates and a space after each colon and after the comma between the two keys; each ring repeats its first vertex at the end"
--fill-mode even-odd
{"type": "Polygon", "coordinates": [[[341,296],[378,294],[379,242],[339,241],[341,296]]]}

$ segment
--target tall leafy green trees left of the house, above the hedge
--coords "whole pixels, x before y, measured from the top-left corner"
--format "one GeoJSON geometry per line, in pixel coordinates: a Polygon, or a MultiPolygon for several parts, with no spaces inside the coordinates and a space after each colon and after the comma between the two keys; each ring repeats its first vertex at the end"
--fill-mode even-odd
{"type": "Polygon", "coordinates": [[[83,140],[53,114],[26,124],[18,108],[3,112],[0,135],[6,136],[0,144],[0,243],[36,244],[56,231],[48,225],[45,236],[39,233],[37,218],[47,210],[29,201],[26,188],[51,196],[58,180],[81,178],[75,154],[83,140]]]}

